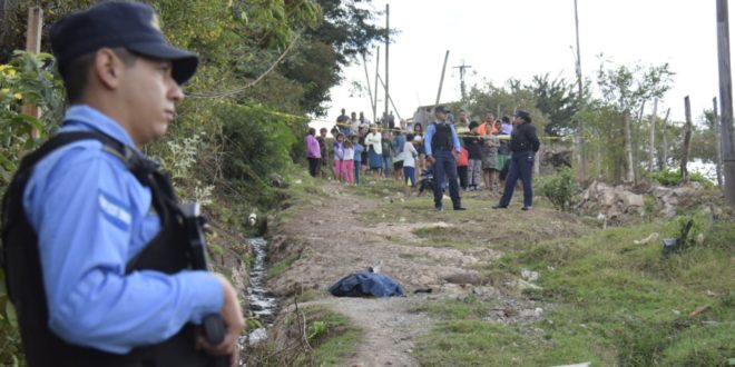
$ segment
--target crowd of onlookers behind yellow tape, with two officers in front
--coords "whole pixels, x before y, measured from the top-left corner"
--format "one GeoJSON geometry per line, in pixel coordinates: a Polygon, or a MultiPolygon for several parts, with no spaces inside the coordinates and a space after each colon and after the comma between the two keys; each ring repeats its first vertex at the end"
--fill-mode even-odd
{"type": "Polygon", "coordinates": [[[460,110],[454,120],[448,109],[438,106],[434,117],[432,123],[409,122],[400,127],[384,127],[384,123],[370,123],[362,112],[360,117],[355,112],[349,117],[342,109],[331,130],[322,128],[317,135],[315,129],[310,129],[306,137],[310,173],[349,185],[361,185],[367,176],[374,180],[395,179],[405,184],[406,197],[416,188],[419,195],[427,190],[434,191],[438,209],[447,188],[455,209],[461,208],[460,189],[503,195],[496,208],[506,208],[516,181],[521,179],[523,208],[531,208],[530,171],[539,140],[528,112],[519,110],[516,113],[516,129],[510,117],[498,119],[491,112],[482,121],[476,121],[460,110]],[[444,125],[450,129],[442,130],[444,125]],[[327,138],[327,132],[331,132],[333,140],[327,138]],[[437,165],[437,158],[441,165],[437,165]],[[511,185],[504,182],[507,177],[511,185]],[[457,194],[452,189],[454,184],[458,186],[457,194]]]}

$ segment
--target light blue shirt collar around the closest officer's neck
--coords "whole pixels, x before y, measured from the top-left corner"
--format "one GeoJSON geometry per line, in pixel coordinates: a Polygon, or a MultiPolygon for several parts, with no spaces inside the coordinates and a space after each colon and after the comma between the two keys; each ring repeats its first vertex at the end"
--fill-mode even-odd
{"type": "Polygon", "coordinates": [[[107,115],[87,105],[75,105],[69,107],[59,132],[97,130],[138,150],[133,138],[125,129],[107,115]]]}

